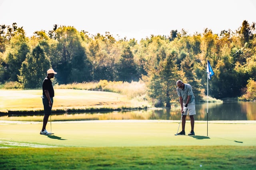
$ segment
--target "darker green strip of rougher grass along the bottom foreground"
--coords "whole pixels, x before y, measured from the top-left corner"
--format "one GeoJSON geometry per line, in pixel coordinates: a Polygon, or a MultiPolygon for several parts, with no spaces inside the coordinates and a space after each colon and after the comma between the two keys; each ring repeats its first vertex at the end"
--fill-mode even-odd
{"type": "Polygon", "coordinates": [[[1,149],[0,168],[84,170],[246,169],[256,147],[96,147],[1,149]]]}

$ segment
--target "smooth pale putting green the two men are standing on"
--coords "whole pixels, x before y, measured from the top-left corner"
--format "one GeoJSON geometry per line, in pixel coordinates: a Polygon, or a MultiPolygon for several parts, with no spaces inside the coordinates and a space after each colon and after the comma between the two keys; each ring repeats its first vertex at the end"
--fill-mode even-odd
{"type": "MultiPolygon", "coordinates": [[[[46,136],[39,134],[42,122],[0,121],[0,147],[29,144],[31,147],[256,146],[256,121],[209,121],[208,136],[206,121],[195,122],[195,136],[174,135],[178,123],[164,120],[52,122],[54,135],[46,136]]],[[[50,132],[50,122],[47,129],[50,132]]],[[[189,131],[187,121],[186,133],[189,131]]]]}

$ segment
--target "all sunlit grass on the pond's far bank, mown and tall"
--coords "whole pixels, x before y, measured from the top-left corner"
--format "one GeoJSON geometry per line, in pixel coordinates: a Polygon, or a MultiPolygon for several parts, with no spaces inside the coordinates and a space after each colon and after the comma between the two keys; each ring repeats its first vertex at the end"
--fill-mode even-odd
{"type": "MultiPolygon", "coordinates": [[[[128,83],[100,80],[99,82],[56,84],[54,89],[56,96],[52,113],[120,111],[153,107],[148,101],[146,87],[142,81],[128,83]],[[102,97],[102,94],[105,96],[102,97]]],[[[0,106],[0,115],[43,113],[41,93],[42,90],[1,90],[0,100],[4,102],[0,106]]],[[[203,101],[207,102],[206,97],[203,101]]],[[[208,102],[222,101],[208,96],[208,102]]],[[[172,104],[172,107],[177,106],[178,103],[172,104]]]]}

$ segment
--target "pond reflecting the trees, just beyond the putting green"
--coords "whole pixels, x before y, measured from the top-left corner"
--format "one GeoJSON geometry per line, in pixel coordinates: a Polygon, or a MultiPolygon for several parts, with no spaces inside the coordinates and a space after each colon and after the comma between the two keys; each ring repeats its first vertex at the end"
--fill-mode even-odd
{"type": "MultiPolygon", "coordinates": [[[[13,115],[16,116],[16,115],[13,115]]],[[[26,116],[26,115],[23,115],[26,116]]],[[[36,117],[39,115],[34,115],[36,117]]],[[[40,115],[42,116],[42,115],[40,115]]],[[[195,120],[207,120],[207,103],[196,104],[195,120]]],[[[62,113],[52,115],[53,121],[75,120],[180,120],[180,109],[148,109],[133,111],[100,111],[86,113],[62,113]]],[[[189,120],[189,116],[187,116],[189,120]]],[[[225,101],[223,103],[208,103],[208,120],[256,120],[256,102],[225,101]]]]}

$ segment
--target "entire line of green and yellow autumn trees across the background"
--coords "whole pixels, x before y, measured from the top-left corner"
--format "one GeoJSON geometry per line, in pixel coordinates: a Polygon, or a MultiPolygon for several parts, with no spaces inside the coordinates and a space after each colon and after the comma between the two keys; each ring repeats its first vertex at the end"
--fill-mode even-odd
{"type": "Polygon", "coordinates": [[[110,32],[90,35],[61,25],[26,37],[16,23],[0,25],[0,83],[41,88],[52,67],[58,72],[54,80],[58,84],[144,81],[154,104],[169,107],[177,98],[179,79],[192,85],[198,101],[206,94],[209,60],[215,73],[208,86],[210,96],[256,100],[255,35],[255,23],[246,20],[236,31],[214,34],[206,28],[189,35],[184,29],[171,30],[170,35],[140,41],[117,40],[110,32]]]}

